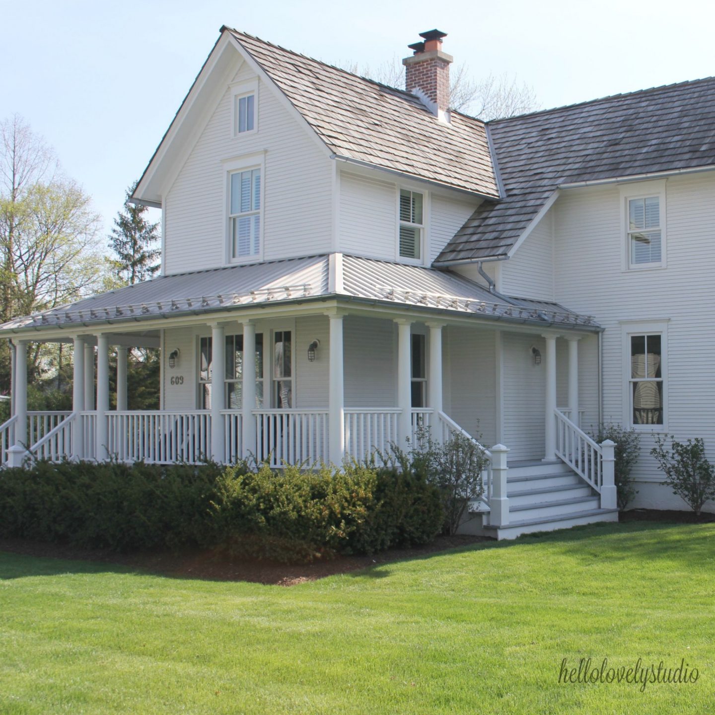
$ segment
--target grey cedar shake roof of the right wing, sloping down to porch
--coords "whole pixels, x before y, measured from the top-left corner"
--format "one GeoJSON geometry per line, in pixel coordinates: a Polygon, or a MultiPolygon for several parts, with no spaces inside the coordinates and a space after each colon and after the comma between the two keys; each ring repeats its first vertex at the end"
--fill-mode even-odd
{"type": "Polygon", "coordinates": [[[435,260],[503,257],[561,184],[715,164],[715,78],[490,122],[506,197],[435,260]]]}

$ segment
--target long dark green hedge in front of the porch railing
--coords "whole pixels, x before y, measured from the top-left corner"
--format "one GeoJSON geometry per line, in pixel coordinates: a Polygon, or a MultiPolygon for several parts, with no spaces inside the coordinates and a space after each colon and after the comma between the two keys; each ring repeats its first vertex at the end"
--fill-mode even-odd
{"type": "Polygon", "coordinates": [[[423,477],[360,465],[39,462],[0,473],[2,536],[84,548],[310,561],[417,546],[442,523],[439,492],[423,477]]]}

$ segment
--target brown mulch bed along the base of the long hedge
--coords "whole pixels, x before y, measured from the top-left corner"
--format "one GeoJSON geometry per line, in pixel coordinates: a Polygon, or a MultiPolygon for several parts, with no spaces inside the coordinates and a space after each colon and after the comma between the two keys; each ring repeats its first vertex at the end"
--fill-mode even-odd
{"type": "Polygon", "coordinates": [[[177,578],[210,578],[217,581],[252,581],[269,586],[295,586],[297,583],[315,581],[317,578],[333,576],[335,573],[349,573],[378,563],[430,556],[449,548],[469,546],[482,541],[493,540],[485,536],[438,536],[435,541],[426,546],[390,549],[374,556],[338,556],[328,561],[295,565],[250,559],[227,561],[225,558],[219,558],[212,551],[118,554],[100,549],[83,549],[15,538],[0,539],[0,551],[44,558],[102,561],[177,578]]]}

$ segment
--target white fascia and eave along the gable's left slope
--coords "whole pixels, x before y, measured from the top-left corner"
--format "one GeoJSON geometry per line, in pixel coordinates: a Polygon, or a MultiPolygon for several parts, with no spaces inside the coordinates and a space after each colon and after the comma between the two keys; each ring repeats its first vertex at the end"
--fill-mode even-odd
{"type": "MultiPolygon", "coordinates": [[[[215,109],[215,107],[211,107],[211,112],[207,111],[207,105],[212,104],[210,102],[204,101],[203,112],[199,119],[194,118],[191,110],[196,104],[197,99],[199,99],[199,97],[204,93],[204,90],[206,90],[207,87],[209,87],[210,89],[210,85],[212,84],[210,80],[215,79],[214,72],[216,66],[225,56],[225,52],[227,49],[233,51],[234,48],[230,43],[230,38],[226,36],[226,33],[224,33],[217,40],[213,49],[209,53],[209,56],[204,62],[204,65],[199,71],[199,74],[197,74],[196,79],[194,79],[194,84],[192,84],[191,88],[189,89],[189,93],[186,97],[184,97],[184,101],[182,102],[176,115],[174,116],[172,123],[169,124],[169,129],[167,129],[166,134],[164,134],[164,137],[162,137],[162,141],[159,142],[159,146],[154,152],[154,156],[152,156],[152,158],[149,160],[149,165],[146,169],[144,169],[144,174],[142,174],[142,178],[139,179],[139,184],[137,184],[137,189],[134,191],[133,194],[133,198],[137,199],[137,203],[153,205],[156,207],[161,206],[162,197],[166,196],[167,194],[167,187],[166,185],[162,185],[161,187],[157,188],[156,186],[152,185],[156,183],[155,179],[157,177],[157,172],[159,172],[159,169],[161,167],[164,167],[166,165],[164,162],[171,161],[171,157],[167,155],[169,155],[172,150],[174,150],[177,135],[182,132],[182,129],[184,129],[184,126],[187,125],[187,122],[194,121],[195,124],[202,124],[202,127],[198,132],[196,131],[196,127],[194,127],[194,130],[190,132],[190,138],[193,140],[193,142],[184,139],[182,141],[182,146],[177,149],[177,152],[179,153],[187,153],[187,144],[191,144],[191,146],[188,147],[188,152],[191,151],[191,149],[193,148],[193,144],[198,140],[201,131],[210,119],[211,114],[215,109]],[[182,149],[184,150],[184,152],[181,151],[182,149]]],[[[231,65],[231,63],[228,64],[231,65]]],[[[231,69],[234,68],[231,66],[231,69]]],[[[227,73],[228,69],[225,69],[223,74],[227,73]]],[[[232,74],[235,74],[235,71],[232,74]]],[[[213,89],[216,89],[218,83],[214,82],[213,84],[213,89]]],[[[174,175],[177,172],[168,173],[174,175]]],[[[166,184],[167,182],[160,183],[166,184]]]]}

